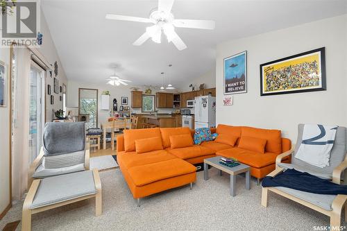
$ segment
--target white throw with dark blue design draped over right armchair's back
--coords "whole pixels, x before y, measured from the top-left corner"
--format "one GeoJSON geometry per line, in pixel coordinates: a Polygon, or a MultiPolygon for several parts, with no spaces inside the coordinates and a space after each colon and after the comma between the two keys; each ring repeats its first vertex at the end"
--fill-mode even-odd
{"type": "Polygon", "coordinates": [[[303,142],[295,157],[314,166],[330,166],[330,151],[335,142],[337,126],[305,124],[303,142]]]}

